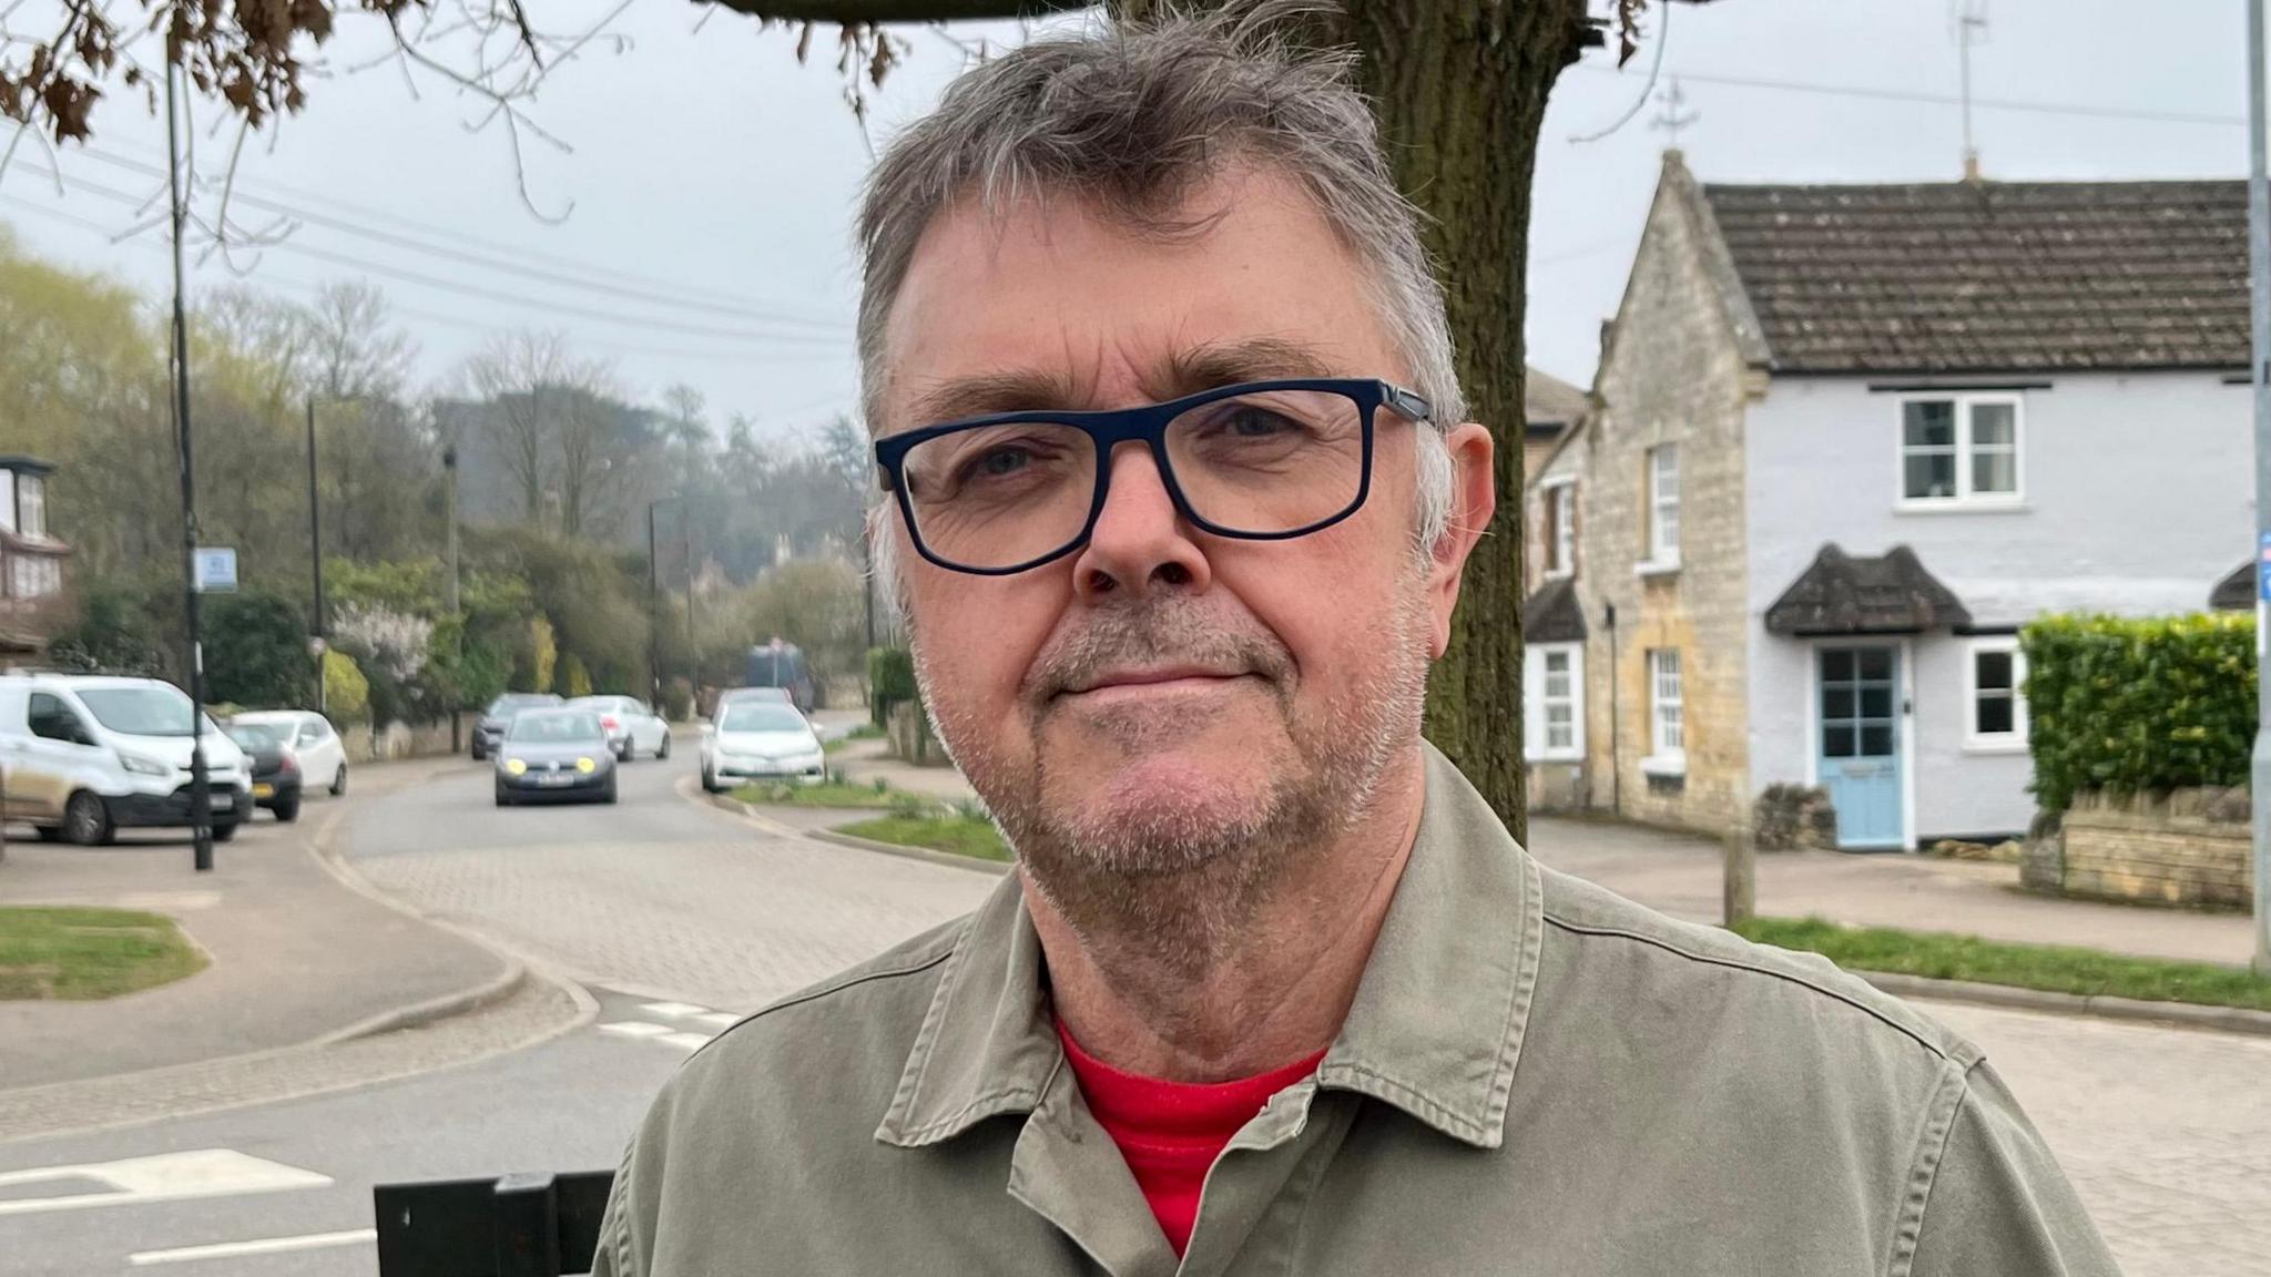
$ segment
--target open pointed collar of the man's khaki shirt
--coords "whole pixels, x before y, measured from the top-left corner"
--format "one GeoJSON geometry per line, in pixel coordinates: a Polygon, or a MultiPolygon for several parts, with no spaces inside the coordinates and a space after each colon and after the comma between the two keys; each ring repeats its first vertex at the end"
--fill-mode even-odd
{"type": "MultiPolygon", "coordinates": [[[[1499,1147],[1544,934],[1537,866],[1433,745],[1413,854],[1317,1086],[1499,1147]]],[[[920,1147],[1031,1113],[1063,1068],[1017,875],[970,918],[877,1138],[920,1147]]]]}

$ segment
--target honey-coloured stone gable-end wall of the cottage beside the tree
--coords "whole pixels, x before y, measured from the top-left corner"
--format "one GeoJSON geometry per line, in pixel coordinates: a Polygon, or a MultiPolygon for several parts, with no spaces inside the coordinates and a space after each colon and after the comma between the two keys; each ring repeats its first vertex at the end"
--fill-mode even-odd
{"type": "MultiPolygon", "coordinates": [[[[1651,825],[1728,829],[1749,782],[1749,600],[1744,414],[1762,379],[1708,264],[1692,177],[1667,159],[1624,307],[1610,332],[1597,411],[1569,452],[1578,479],[1578,598],[1585,604],[1590,802],[1651,825]],[[1649,450],[1681,450],[1681,564],[1640,573],[1649,536],[1649,450]],[[1617,609],[1617,652],[1601,623],[1617,609]],[[1681,652],[1685,775],[1651,775],[1646,652],[1681,652]],[[1615,679],[1615,693],[1610,688],[1615,679]]],[[[1565,452],[1567,454],[1567,452],[1565,452]]]]}

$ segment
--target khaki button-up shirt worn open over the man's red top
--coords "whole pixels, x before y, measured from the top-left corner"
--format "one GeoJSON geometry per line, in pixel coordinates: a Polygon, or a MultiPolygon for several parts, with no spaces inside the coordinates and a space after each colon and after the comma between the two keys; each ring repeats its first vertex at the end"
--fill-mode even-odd
{"type": "Polygon", "coordinates": [[[595,1272],[2117,1268],[1978,1048],[1819,957],[1540,868],[1428,750],[1349,1018],[1215,1161],[1181,1266],[1065,1066],[1013,875],[688,1059],[595,1272]]]}

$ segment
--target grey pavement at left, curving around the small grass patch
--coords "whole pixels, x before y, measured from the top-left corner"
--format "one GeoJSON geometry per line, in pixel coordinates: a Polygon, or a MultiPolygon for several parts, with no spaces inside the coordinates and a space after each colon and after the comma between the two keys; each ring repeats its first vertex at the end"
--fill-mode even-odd
{"type": "Polygon", "coordinates": [[[0,1088],[268,1052],[504,993],[511,961],[350,891],[311,854],[341,820],[393,802],[434,766],[357,766],[347,798],[311,798],[295,825],[259,816],[213,848],[202,875],[175,832],[123,834],[111,848],[11,838],[0,904],[164,913],[211,966],[104,1002],[0,1002],[0,1088]]]}

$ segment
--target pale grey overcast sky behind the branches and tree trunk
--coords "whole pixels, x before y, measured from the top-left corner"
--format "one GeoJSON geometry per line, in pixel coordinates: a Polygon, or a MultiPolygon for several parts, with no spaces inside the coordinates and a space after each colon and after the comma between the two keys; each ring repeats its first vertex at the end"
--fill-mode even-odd
{"type": "MultiPolygon", "coordinates": [[[[2246,175],[2241,0],[1973,2],[1989,20],[1973,50],[1989,177],[2246,175]]],[[[581,0],[531,9],[556,30],[597,11],[581,0]]],[[[611,359],[631,395],[688,382],[718,423],[745,411],[804,432],[847,411],[849,214],[870,145],[936,100],[965,64],[958,41],[1020,32],[904,32],[906,68],[863,130],[845,107],[831,32],[815,34],[813,64],[799,68],[793,34],[731,11],[695,30],[704,11],[643,0],[611,27],[629,36],[627,52],[590,48],[554,70],[531,111],[575,150],[531,141],[527,155],[534,202],[565,211],[556,225],[522,207],[506,136],[470,132],[479,105],[434,75],[416,75],[418,98],[391,66],[311,84],[309,109],[238,170],[238,193],[263,200],[241,207],[241,220],[288,207],[302,225],[236,266],[291,295],[329,277],[382,284],[434,384],[495,329],[559,327],[611,359]]],[[[1572,139],[1642,100],[1658,43],[1656,86],[1678,77],[1694,114],[1678,143],[1706,182],[1933,182],[1953,180],[1962,155],[1953,11],[1955,0],[1676,5],[1651,14],[1651,39],[1621,73],[1603,50],[1567,70],[1537,148],[1531,361],[1578,384],[1592,375],[1669,134],[1651,127],[1651,100],[1601,141],[1572,139]]],[[[382,48],[379,32],[347,30],[329,61],[343,68],[382,48]]],[[[218,170],[220,143],[202,145],[218,170]]],[[[161,155],[161,125],[114,98],[91,152],[66,150],[61,198],[39,177],[48,159],[18,155],[0,177],[0,220],[41,254],[159,298],[164,241],[111,236],[139,216],[118,195],[154,191],[134,166],[161,155]]],[[[191,289],[229,279],[213,259],[191,289]]]]}

